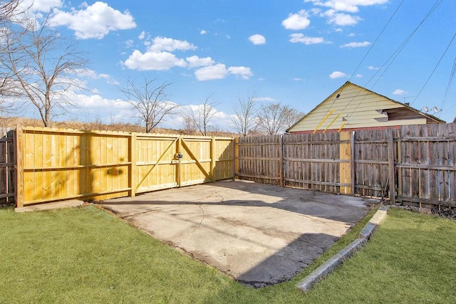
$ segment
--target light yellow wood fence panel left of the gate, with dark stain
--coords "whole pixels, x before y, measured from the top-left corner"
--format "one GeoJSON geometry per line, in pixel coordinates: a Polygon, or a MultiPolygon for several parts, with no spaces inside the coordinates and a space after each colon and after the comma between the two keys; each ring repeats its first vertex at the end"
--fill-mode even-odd
{"type": "Polygon", "coordinates": [[[40,127],[20,132],[24,205],[128,195],[129,133],[40,127]]]}

